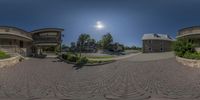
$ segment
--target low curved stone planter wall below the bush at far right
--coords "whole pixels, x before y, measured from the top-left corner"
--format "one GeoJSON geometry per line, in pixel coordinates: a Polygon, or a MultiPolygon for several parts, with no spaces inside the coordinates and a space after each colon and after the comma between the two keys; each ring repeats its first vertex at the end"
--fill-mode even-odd
{"type": "Polygon", "coordinates": [[[200,60],[186,59],[176,56],[176,60],[186,66],[200,68],[200,60]]]}

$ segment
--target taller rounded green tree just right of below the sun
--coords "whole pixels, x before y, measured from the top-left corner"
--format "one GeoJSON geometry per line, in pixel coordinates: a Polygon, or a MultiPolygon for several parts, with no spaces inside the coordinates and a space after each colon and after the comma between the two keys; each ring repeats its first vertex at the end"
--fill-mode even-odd
{"type": "Polygon", "coordinates": [[[108,49],[112,42],[113,42],[113,37],[110,33],[103,35],[102,39],[100,40],[101,47],[103,49],[108,49]]]}

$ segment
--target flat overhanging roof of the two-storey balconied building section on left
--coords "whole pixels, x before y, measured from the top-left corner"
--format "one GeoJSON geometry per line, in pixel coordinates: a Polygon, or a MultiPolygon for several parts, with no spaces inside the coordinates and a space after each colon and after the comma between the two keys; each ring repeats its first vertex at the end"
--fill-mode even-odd
{"type": "Polygon", "coordinates": [[[31,31],[31,33],[38,33],[38,32],[44,32],[44,31],[62,32],[62,31],[64,31],[64,29],[61,29],[61,28],[42,28],[42,29],[37,29],[37,30],[31,31]]]}

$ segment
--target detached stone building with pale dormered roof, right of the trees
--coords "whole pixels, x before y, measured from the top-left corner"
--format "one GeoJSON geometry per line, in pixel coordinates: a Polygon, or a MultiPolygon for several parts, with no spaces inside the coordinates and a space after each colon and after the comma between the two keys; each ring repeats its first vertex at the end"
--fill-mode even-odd
{"type": "Polygon", "coordinates": [[[144,34],[142,41],[143,53],[167,52],[172,50],[174,39],[165,34],[144,34]]]}

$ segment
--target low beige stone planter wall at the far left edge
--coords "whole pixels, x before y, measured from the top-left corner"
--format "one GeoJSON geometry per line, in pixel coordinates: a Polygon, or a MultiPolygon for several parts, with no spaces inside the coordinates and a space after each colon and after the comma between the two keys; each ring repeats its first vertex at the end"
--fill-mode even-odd
{"type": "Polygon", "coordinates": [[[0,60],[0,68],[6,67],[6,66],[13,66],[19,62],[20,56],[15,56],[7,59],[1,59],[0,60]]]}

